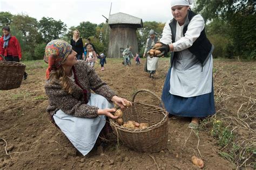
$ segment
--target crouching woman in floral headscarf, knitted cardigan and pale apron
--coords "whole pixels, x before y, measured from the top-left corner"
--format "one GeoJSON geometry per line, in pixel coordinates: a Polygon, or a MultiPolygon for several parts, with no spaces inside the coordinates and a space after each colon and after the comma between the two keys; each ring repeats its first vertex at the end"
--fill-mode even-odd
{"type": "Polygon", "coordinates": [[[45,93],[52,120],[77,150],[86,155],[104,131],[106,116],[117,118],[111,114],[115,111],[110,109],[112,102],[123,108],[126,100],[116,96],[95,70],[85,61],[78,61],[76,55],[66,41],[53,40],[46,45],[44,61],[49,67],[45,93]]]}

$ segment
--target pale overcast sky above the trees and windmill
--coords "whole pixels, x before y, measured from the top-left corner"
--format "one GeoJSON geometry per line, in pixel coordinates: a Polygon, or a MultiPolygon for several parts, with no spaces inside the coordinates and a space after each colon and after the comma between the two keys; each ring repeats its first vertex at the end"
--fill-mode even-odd
{"type": "Polygon", "coordinates": [[[81,22],[105,23],[111,14],[123,12],[145,21],[165,23],[172,18],[170,1],[139,0],[0,0],[0,11],[12,15],[24,13],[38,21],[42,17],[61,20],[68,28],[81,22]]]}

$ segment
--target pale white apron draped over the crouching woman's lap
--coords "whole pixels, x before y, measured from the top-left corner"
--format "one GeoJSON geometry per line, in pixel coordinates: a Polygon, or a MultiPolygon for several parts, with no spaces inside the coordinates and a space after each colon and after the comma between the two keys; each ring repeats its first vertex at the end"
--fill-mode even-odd
{"type": "MultiPolygon", "coordinates": [[[[112,103],[97,94],[91,94],[87,104],[99,109],[113,108],[112,103]]],[[[83,155],[92,150],[106,123],[106,118],[103,115],[96,118],[81,118],[67,115],[62,110],[58,110],[53,118],[60,130],[83,155]]]]}

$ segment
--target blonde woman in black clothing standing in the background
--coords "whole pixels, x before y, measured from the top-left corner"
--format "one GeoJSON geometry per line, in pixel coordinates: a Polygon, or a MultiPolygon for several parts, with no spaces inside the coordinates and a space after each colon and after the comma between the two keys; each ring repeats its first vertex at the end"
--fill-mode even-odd
{"type": "Polygon", "coordinates": [[[82,60],[84,47],[82,38],[79,38],[78,30],[73,31],[73,38],[71,39],[70,44],[72,45],[73,51],[77,52],[77,60],[82,60]]]}

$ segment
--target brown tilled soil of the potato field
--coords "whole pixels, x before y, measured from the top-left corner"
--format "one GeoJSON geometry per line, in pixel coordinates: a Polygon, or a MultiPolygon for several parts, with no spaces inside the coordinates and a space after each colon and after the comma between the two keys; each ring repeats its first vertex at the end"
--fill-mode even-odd
{"type": "MultiPolygon", "coordinates": [[[[121,60],[108,59],[104,72],[98,64],[95,69],[119,96],[128,100],[138,89],[149,89],[160,96],[169,59],[159,60],[154,79],[143,71],[144,62],[140,66],[133,62],[132,66],[124,67],[121,60]]],[[[242,93],[255,98],[255,62],[216,60],[214,68],[217,69],[214,73],[216,110],[226,107],[228,114],[236,115],[244,103],[243,98],[226,100],[223,104],[217,101],[221,97],[219,90],[222,89],[223,95],[240,96],[242,93]]],[[[0,138],[6,140],[8,147],[11,146],[6,154],[5,142],[0,139],[0,169],[198,169],[192,164],[191,157],[200,157],[200,154],[206,169],[236,168],[219,156],[219,148],[208,133],[209,128],[199,131],[199,141],[196,133],[187,128],[190,119],[180,117],[169,119],[169,141],[163,151],[138,153],[124,144],[116,150],[117,143],[110,142],[103,151],[83,157],[48,119],[45,111],[48,105],[44,93],[45,68],[31,68],[27,72],[28,79],[20,88],[0,91],[0,138]]],[[[158,100],[140,94],[136,101],[157,104],[158,100]]],[[[246,132],[241,135],[245,139],[250,137],[246,132]]]]}

